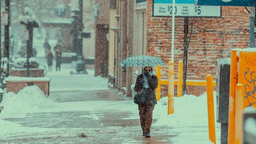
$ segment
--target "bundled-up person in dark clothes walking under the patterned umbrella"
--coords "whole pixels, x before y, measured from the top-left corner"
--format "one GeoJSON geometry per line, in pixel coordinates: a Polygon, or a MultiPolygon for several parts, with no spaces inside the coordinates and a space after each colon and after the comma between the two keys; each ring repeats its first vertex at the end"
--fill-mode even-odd
{"type": "Polygon", "coordinates": [[[155,107],[156,96],[155,89],[158,85],[157,76],[153,75],[152,67],[144,67],[142,74],[137,76],[134,90],[140,93],[145,92],[145,102],[138,104],[140,122],[142,127],[142,136],[151,137],[150,129],[152,124],[153,109],[155,107]]]}

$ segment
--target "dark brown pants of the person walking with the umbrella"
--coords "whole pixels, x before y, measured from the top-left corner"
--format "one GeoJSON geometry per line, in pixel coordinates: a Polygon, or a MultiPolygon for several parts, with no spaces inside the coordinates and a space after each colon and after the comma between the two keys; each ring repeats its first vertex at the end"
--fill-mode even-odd
{"type": "Polygon", "coordinates": [[[150,133],[153,109],[155,108],[155,105],[139,104],[138,107],[142,131],[145,133],[150,133]]]}

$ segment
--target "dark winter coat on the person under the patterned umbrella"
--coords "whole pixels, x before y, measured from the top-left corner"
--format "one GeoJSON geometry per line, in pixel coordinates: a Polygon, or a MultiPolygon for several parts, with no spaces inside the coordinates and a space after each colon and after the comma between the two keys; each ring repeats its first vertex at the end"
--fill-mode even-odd
{"type": "MultiPolygon", "coordinates": [[[[146,105],[155,105],[157,104],[156,102],[156,96],[155,96],[155,89],[157,88],[158,85],[158,79],[157,76],[152,75],[150,79],[147,80],[149,88],[145,89],[145,93],[146,93],[146,101],[145,104],[146,105]]],[[[136,79],[136,83],[135,83],[135,87],[134,90],[136,92],[140,92],[143,88],[142,86],[143,83],[143,76],[142,74],[137,76],[136,79]]]]}

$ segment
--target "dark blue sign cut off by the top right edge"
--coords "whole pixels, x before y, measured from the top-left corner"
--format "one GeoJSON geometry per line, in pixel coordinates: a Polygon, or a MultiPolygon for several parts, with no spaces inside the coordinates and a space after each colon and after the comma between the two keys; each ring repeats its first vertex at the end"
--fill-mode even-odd
{"type": "Polygon", "coordinates": [[[195,5],[255,6],[254,0],[195,0],[195,5]]]}

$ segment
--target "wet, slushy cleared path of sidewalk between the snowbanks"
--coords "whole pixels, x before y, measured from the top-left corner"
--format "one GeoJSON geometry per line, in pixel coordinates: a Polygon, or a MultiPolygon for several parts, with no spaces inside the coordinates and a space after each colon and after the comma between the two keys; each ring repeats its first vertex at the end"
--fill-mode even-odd
{"type": "Polygon", "coordinates": [[[170,144],[170,138],[175,135],[169,126],[154,126],[153,122],[152,137],[142,137],[139,117],[131,119],[136,117],[137,105],[134,104],[131,108],[129,103],[133,101],[118,94],[117,90],[53,92],[49,99],[57,101],[58,104],[41,107],[45,112],[28,113],[24,118],[4,119],[28,129],[37,127],[46,130],[1,135],[0,143],[170,144]],[[74,102],[76,100],[79,102],[74,102]],[[83,106],[79,110],[78,105],[72,108],[74,103],[90,104],[89,107],[83,106]],[[95,107],[91,107],[93,105],[95,107]],[[105,109],[108,105],[109,108],[105,109]],[[120,108],[119,111],[122,105],[129,108],[125,111],[120,108]],[[52,110],[59,108],[63,109],[52,110]],[[162,135],[163,131],[169,135],[162,135]],[[82,133],[87,137],[80,137],[82,133]]]}

